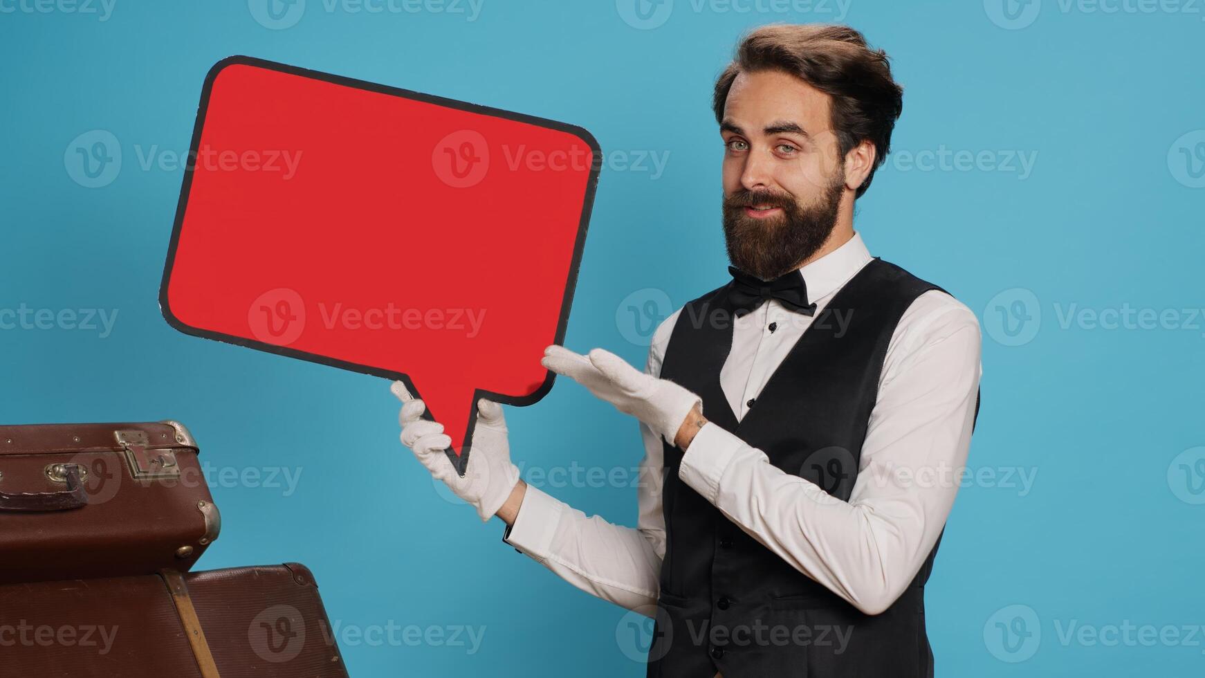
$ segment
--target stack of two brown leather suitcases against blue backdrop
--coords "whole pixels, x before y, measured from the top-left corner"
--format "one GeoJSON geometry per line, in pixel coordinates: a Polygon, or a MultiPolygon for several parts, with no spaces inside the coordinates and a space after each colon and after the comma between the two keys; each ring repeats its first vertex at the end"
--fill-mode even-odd
{"type": "Polygon", "coordinates": [[[189,572],[222,520],[176,421],[0,426],[0,677],[346,678],[310,571],[189,572]]]}

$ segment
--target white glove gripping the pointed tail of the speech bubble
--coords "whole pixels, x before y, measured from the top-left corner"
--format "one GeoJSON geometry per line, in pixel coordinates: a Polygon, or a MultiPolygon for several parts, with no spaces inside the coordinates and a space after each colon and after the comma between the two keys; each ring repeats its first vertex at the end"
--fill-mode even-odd
{"type": "Polygon", "coordinates": [[[421,418],[427,405],[411,396],[406,384],[394,382],[390,390],[402,401],[398,415],[401,444],[415,453],[431,476],[443,481],[453,494],[471,503],[482,521],[493,518],[519,482],[519,470],[511,462],[511,444],[506,436],[502,406],[486,399],[477,401],[477,424],[472,431],[472,441],[468,450],[462,450],[462,454],[469,454],[469,464],[464,476],[460,476],[447,456],[446,450],[452,447],[452,438],[443,432],[443,424],[421,418]]]}

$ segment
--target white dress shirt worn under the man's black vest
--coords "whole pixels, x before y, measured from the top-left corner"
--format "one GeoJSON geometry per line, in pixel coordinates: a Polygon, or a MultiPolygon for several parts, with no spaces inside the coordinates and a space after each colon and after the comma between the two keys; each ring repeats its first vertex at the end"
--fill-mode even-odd
{"type": "MultiPolygon", "coordinates": [[[[770,300],[734,324],[719,379],[737,418],[812,319],[870,260],[854,232],[799,270],[816,316],[770,300]]],[[[660,373],[681,311],[653,334],[651,375],[660,373]]],[[[945,526],[966,462],[981,373],[977,318],[948,294],[927,291],[888,344],[848,502],[783,472],[713,423],[690,442],[678,477],[799,572],[877,614],[911,583],[945,526]]],[[[660,436],[643,424],[640,430],[635,529],[587,517],[529,485],[505,541],[578,589],[653,615],[665,556],[663,449],[660,436]]]]}

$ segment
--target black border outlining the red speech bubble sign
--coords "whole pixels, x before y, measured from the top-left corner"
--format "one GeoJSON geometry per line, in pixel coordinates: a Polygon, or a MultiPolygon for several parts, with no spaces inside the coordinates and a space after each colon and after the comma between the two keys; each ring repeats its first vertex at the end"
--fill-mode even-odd
{"type": "MultiPolygon", "coordinates": [[[[502,118],[507,120],[527,123],[530,125],[536,125],[557,131],[564,131],[581,138],[587,146],[589,146],[590,151],[594,153],[594,161],[590,163],[589,178],[586,182],[586,194],[582,200],[582,217],[577,225],[577,236],[574,241],[574,255],[569,263],[569,277],[565,279],[565,295],[560,302],[560,317],[557,319],[557,334],[552,343],[562,343],[564,341],[565,328],[569,324],[569,309],[572,306],[574,290],[577,287],[577,271],[582,263],[582,250],[586,247],[586,229],[590,222],[590,211],[594,207],[594,193],[595,189],[598,188],[598,182],[599,182],[600,163],[598,163],[598,159],[602,157],[602,149],[599,147],[598,141],[590,132],[586,131],[586,129],[580,128],[577,125],[559,123],[557,120],[549,120],[547,118],[537,118],[535,116],[527,116],[523,113],[516,113],[513,111],[504,111],[501,108],[493,108],[489,106],[469,104],[466,101],[458,101],[455,99],[445,99],[442,96],[435,96],[431,94],[422,94],[410,89],[401,89],[396,87],[377,84],[362,79],[324,73],[321,71],[311,71],[308,69],[289,66],[287,64],[269,61],[266,59],[258,59],[255,57],[235,55],[235,57],[228,57],[225,59],[222,59],[217,64],[213,64],[213,67],[211,67],[210,72],[205,76],[205,86],[201,89],[201,101],[196,108],[196,124],[193,128],[193,141],[189,145],[190,155],[195,155],[200,148],[201,130],[205,126],[205,113],[208,110],[210,93],[213,89],[213,81],[217,79],[218,73],[221,73],[227,66],[233,66],[233,65],[254,66],[271,71],[289,73],[294,76],[324,81],[334,84],[352,87],[355,89],[376,92],[378,94],[388,94],[392,96],[400,96],[415,101],[424,101],[427,104],[435,104],[439,106],[455,108],[459,111],[468,111],[471,113],[492,116],[495,118],[502,118]]],[[[254,348],[257,350],[275,353],[277,355],[286,355],[288,358],[298,358],[301,360],[307,360],[310,362],[330,365],[333,367],[341,367],[343,370],[351,370],[353,372],[360,372],[375,377],[384,377],[387,379],[400,381],[406,385],[406,389],[410,391],[412,396],[419,399],[422,397],[418,393],[418,389],[415,388],[413,382],[410,381],[410,377],[402,372],[394,372],[390,370],[382,370],[380,367],[359,365],[355,362],[348,362],[346,360],[328,358],[325,355],[318,355],[315,353],[307,353],[304,350],[298,350],[283,346],[265,343],[247,337],[240,337],[235,335],[227,335],[223,332],[204,330],[200,328],[193,328],[181,322],[180,318],[177,318],[175,313],[171,312],[171,305],[167,301],[167,285],[171,281],[172,265],[176,261],[176,248],[180,243],[180,231],[184,223],[184,212],[188,206],[188,194],[189,190],[192,189],[192,184],[193,184],[193,166],[186,165],[184,179],[180,188],[180,202],[176,206],[176,222],[171,230],[171,242],[167,246],[167,260],[166,263],[164,263],[163,282],[159,284],[159,309],[163,312],[163,317],[165,320],[167,320],[169,325],[171,325],[172,328],[180,330],[186,335],[193,335],[202,338],[221,341],[224,343],[233,343],[236,346],[245,346],[247,348],[254,348]]],[[[552,390],[552,384],[553,381],[556,381],[556,377],[557,377],[556,372],[546,371],[546,377],[543,379],[543,383],[540,384],[540,388],[537,388],[535,393],[525,396],[509,396],[505,394],[487,391],[484,389],[474,389],[472,400],[469,402],[470,407],[469,428],[465,431],[465,440],[459,441],[459,444],[464,447],[464,454],[460,455],[455,454],[457,444],[453,444],[446,450],[448,460],[452,461],[452,466],[455,467],[457,473],[464,476],[465,467],[469,464],[469,452],[471,446],[465,447],[463,443],[465,441],[472,440],[474,429],[477,426],[478,400],[481,400],[482,397],[488,397],[489,400],[494,400],[504,405],[516,405],[516,406],[535,405],[541,399],[543,399],[543,396],[547,395],[549,390],[552,390]]],[[[423,413],[423,418],[429,420],[435,420],[435,415],[431,414],[430,409],[423,413]]]]}

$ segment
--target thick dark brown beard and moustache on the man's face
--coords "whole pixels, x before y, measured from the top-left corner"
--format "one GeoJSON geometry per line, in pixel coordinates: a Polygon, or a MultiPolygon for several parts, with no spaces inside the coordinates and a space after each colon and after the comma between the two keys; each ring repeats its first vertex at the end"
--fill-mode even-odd
{"type": "Polygon", "coordinates": [[[837,208],[845,191],[844,167],[819,196],[819,201],[800,206],[789,194],[741,190],[725,195],[724,241],[733,266],[763,281],[798,269],[816,254],[836,226],[837,208]],[[782,214],[756,219],[745,214],[745,207],[772,205],[782,214]]]}

